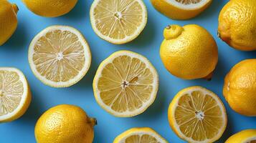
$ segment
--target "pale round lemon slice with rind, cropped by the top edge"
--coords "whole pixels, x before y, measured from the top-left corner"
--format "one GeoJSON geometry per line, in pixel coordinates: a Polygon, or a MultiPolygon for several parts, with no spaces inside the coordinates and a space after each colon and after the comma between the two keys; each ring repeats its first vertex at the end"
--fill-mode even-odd
{"type": "Polygon", "coordinates": [[[90,8],[90,23],[101,39],[125,44],[141,34],[147,23],[142,0],[95,0],[90,8]]]}

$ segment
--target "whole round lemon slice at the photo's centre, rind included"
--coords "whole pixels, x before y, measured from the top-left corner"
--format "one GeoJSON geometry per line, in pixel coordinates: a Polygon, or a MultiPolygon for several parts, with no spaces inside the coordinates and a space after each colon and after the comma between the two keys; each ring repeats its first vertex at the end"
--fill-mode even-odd
{"type": "Polygon", "coordinates": [[[99,66],[93,80],[95,99],[116,117],[133,117],[156,99],[158,74],[140,54],[117,51],[99,66]]]}

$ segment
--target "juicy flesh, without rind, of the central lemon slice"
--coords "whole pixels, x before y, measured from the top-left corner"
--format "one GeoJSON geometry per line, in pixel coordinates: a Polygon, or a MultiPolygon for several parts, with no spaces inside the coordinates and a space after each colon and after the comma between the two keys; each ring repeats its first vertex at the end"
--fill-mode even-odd
{"type": "Polygon", "coordinates": [[[101,74],[100,98],[115,112],[133,112],[151,97],[153,74],[137,58],[118,56],[101,74]]]}

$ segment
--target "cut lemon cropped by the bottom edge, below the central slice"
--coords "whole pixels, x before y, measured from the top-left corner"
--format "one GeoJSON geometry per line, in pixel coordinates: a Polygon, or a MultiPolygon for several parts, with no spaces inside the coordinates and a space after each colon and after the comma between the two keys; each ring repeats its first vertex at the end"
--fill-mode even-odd
{"type": "Polygon", "coordinates": [[[132,128],[115,137],[113,143],[168,143],[149,127],[132,128]]]}

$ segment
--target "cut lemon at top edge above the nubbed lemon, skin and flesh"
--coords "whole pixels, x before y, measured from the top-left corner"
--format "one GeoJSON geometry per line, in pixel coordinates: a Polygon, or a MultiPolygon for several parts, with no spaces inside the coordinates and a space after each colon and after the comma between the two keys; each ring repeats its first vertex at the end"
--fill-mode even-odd
{"type": "Polygon", "coordinates": [[[212,0],[151,0],[153,6],[171,19],[191,19],[202,13],[212,0]]]}

